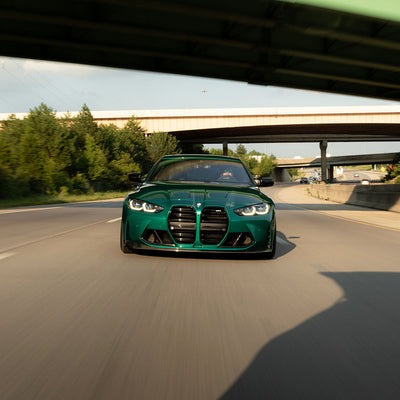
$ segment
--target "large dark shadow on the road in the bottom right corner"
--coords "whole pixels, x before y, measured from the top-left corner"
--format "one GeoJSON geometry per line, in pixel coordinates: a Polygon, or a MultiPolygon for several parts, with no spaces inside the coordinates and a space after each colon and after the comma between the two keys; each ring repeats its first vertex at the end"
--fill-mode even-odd
{"type": "Polygon", "coordinates": [[[343,298],[269,341],[220,400],[400,398],[400,274],[321,275],[343,298]]]}

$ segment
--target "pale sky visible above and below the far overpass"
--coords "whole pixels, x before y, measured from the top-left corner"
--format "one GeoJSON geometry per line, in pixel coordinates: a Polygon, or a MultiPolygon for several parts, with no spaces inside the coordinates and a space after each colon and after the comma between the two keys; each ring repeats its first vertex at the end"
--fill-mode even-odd
{"type": "MultiPolygon", "coordinates": [[[[91,111],[400,105],[221,79],[0,56],[0,114],[29,112],[40,103],[58,112],[79,111],[84,104],[91,111]]],[[[235,150],[236,144],[230,148],[235,150]]],[[[319,155],[318,143],[260,143],[246,148],[278,158],[319,155]]],[[[327,152],[332,156],[400,152],[400,142],[329,143],[327,152]]]]}

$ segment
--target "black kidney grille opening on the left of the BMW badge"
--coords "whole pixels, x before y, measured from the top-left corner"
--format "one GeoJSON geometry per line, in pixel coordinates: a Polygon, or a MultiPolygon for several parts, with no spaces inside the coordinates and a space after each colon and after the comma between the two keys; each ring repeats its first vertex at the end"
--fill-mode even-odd
{"type": "Polygon", "coordinates": [[[168,216],[168,228],[177,243],[193,244],[196,238],[196,212],[193,207],[172,207],[168,216]]]}

